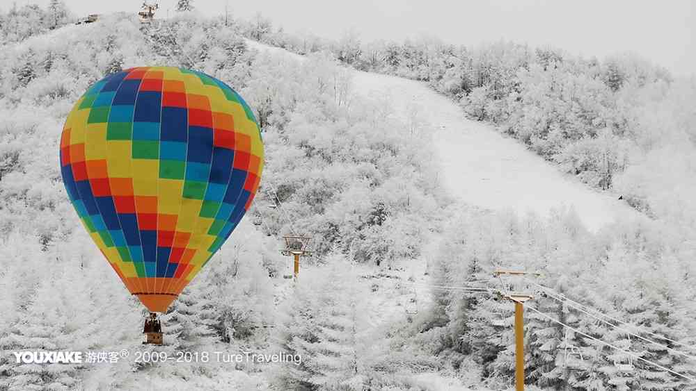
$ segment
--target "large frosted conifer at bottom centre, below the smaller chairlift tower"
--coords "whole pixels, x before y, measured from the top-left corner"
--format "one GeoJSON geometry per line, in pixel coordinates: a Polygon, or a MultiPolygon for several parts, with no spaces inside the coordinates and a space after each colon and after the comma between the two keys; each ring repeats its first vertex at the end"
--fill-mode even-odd
{"type": "Polygon", "coordinates": [[[300,365],[284,365],[276,375],[283,388],[363,390],[365,287],[345,258],[330,258],[330,265],[301,276],[295,298],[283,308],[280,347],[301,356],[300,365]]]}

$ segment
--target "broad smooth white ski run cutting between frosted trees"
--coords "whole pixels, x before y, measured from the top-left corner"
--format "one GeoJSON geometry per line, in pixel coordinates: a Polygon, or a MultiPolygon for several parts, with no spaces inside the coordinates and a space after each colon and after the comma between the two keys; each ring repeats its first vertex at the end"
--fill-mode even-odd
{"type": "Polygon", "coordinates": [[[461,107],[417,81],[355,72],[354,91],[385,97],[402,120],[416,115],[433,131],[435,158],[445,190],[464,203],[492,210],[512,209],[548,216],[574,208],[597,231],[620,215],[638,215],[614,196],[592,190],[492,126],[467,119],[461,107]]]}

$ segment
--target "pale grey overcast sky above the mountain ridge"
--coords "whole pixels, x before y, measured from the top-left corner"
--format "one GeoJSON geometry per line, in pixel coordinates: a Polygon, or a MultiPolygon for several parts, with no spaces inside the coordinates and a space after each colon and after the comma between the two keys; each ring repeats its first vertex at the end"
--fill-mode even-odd
{"type": "MultiPolygon", "coordinates": [[[[45,5],[49,0],[17,0],[45,5]]],[[[79,15],[137,12],[142,0],[64,0],[79,15]]],[[[161,16],[177,0],[160,0],[161,16]]],[[[10,0],[1,0],[9,4],[10,0]]],[[[338,38],[355,31],[362,40],[402,40],[430,35],[445,42],[480,44],[500,39],[551,44],[571,53],[603,57],[633,51],[676,74],[696,73],[696,37],[690,0],[193,0],[206,15],[257,12],[288,32],[338,38]]]]}

